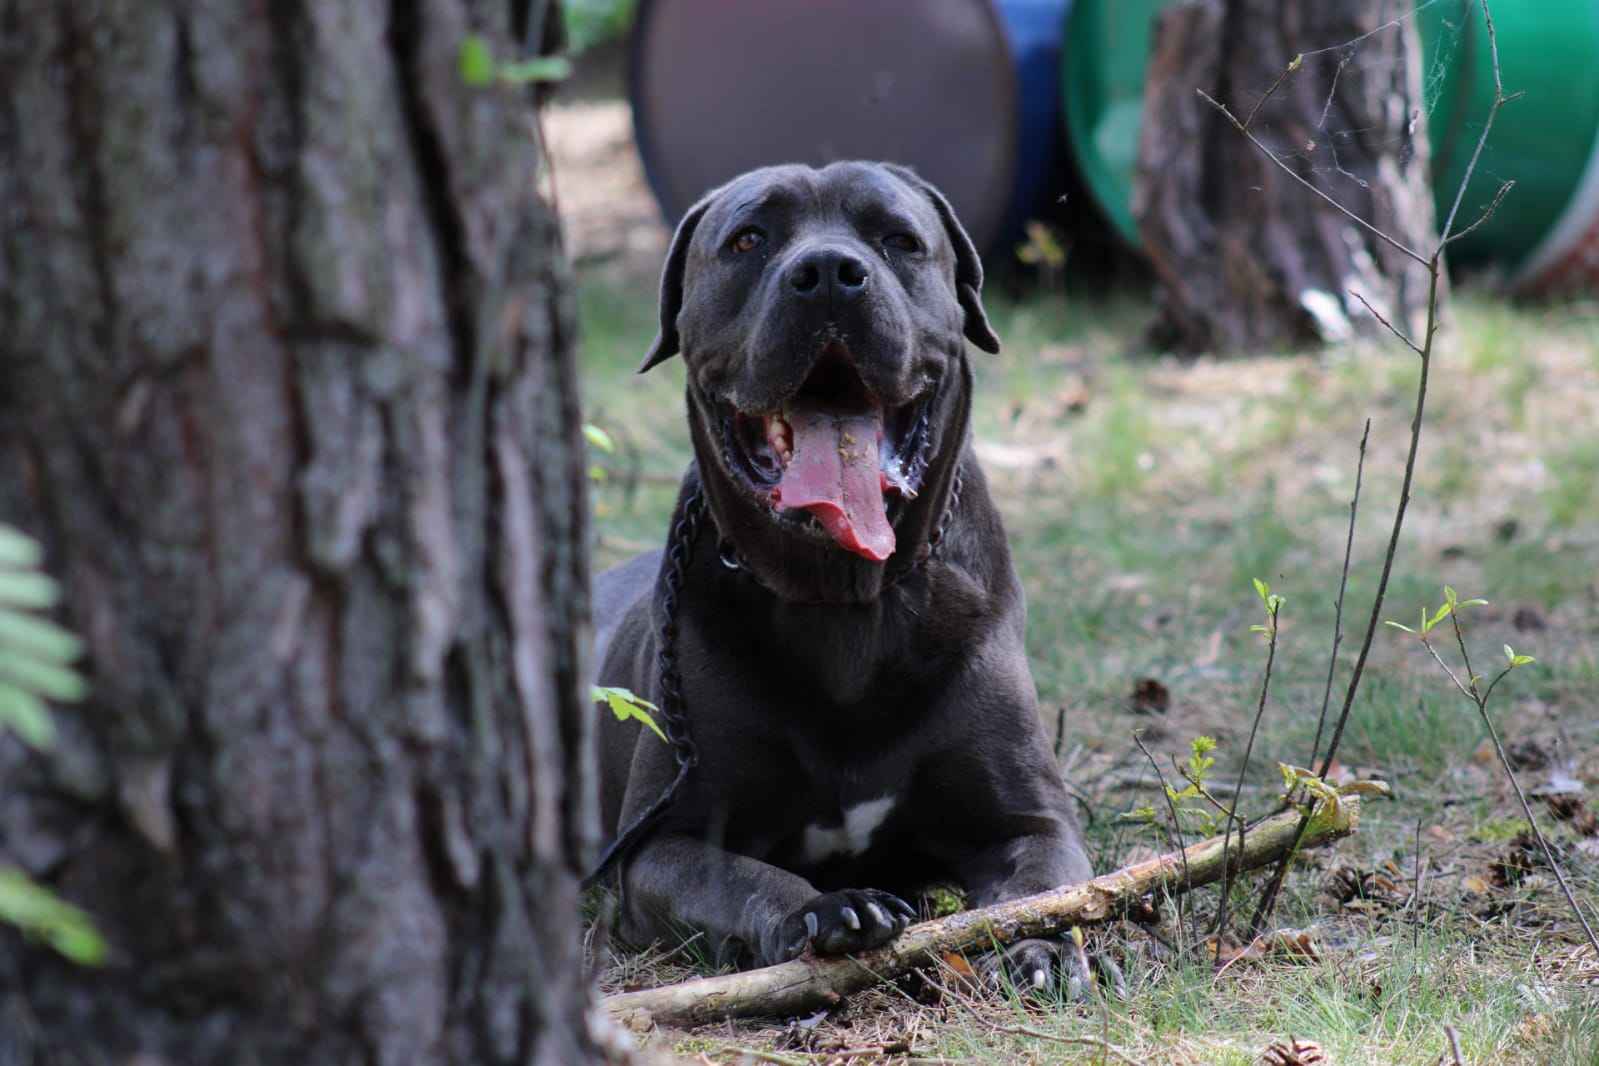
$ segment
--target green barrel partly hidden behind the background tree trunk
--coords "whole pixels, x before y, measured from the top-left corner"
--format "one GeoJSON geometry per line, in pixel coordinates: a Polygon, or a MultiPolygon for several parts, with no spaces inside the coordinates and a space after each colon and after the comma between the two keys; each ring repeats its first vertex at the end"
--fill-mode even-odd
{"type": "MultiPolygon", "coordinates": [[[[1071,153],[1129,243],[1138,240],[1130,200],[1150,30],[1169,2],[1078,0],[1067,24],[1062,91],[1071,153]]],[[[1417,8],[1442,221],[1493,101],[1493,70],[1477,0],[1422,0],[1417,8]]],[[[1452,257],[1497,264],[1532,291],[1599,280],[1599,0],[1497,0],[1492,10],[1505,89],[1524,96],[1500,112],[1457,230],[1500,182],[1514,179],[1516,189],[1452,257]]]]}

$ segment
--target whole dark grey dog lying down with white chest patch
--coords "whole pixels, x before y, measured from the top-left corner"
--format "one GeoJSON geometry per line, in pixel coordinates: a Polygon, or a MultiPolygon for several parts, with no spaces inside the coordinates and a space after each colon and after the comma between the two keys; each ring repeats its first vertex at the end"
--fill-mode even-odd
{"type": "MultiPolygon", "coordinates": [[[[673,738],[603,716],[630,940],[855,953],[932,882],[982,906],[1091,876],[971,446],[982,284],[892,165],[752,171],[678,225],[641,371],[683,355],[696,459],[667,551],[595,590],[600,682],[673,738]]],[[[1006,962],[1043,984],[1054,959],[1006,962]]]]}

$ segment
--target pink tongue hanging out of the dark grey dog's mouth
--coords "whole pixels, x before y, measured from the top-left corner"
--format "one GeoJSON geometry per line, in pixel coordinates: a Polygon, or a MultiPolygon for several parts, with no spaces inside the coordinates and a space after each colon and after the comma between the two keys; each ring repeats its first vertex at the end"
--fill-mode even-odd
{"type": "Polygon", "coordinates": [[[772,503],[815,515],[846,551],[881,563],[894,555],[894,527],[883,505],[878,436],[883,414],[833,414],[795,408],[793,459],[772,489],[772,503]]]}

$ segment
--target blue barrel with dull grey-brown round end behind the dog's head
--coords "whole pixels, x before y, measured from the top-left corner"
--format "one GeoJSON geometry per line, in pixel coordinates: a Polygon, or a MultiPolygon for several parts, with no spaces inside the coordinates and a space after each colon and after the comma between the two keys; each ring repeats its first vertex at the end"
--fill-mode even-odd
{"type": "Polygon", "coordinates": [[[1057,192],[1071,0],[643,0],[630,97],[675,222],[755,166],[867,158],[939,185],[979,248],[1057,192]]]}

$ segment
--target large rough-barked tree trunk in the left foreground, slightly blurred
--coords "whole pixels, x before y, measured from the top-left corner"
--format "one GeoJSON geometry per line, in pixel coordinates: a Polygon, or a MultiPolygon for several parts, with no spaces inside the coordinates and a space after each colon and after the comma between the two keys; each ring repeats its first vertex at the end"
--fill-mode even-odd
{"type": "Polygon", "coordinates": [[[0,1061],[595,1056],[568,280],[459,74],[547,6],[0,0],[0,516],[94,686],[0,865],[114,946],[0,929],[0,1061]]]}

